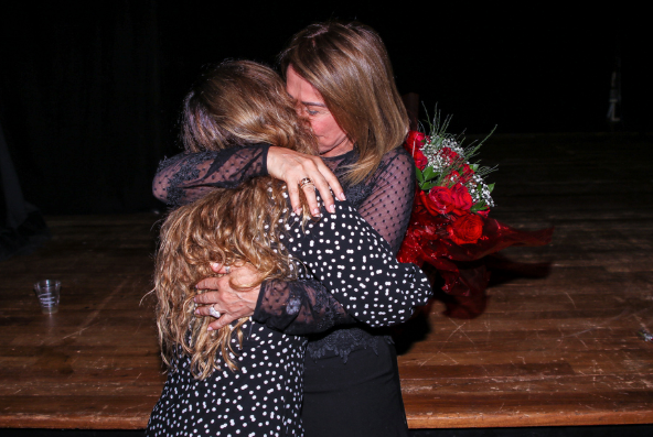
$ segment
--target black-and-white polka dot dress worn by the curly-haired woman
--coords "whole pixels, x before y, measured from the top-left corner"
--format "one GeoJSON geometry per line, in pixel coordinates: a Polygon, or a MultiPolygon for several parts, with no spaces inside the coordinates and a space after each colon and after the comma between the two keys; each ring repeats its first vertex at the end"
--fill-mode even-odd
{"type": "MultiPolygon", "coordinates": [[[[347,201],[302,225],[291,214],[281,242],[300,278],[317,278],[360,321],[387,326],[426,303],[428,280],[396,261],[388,243],[347,201]]],[[[301,436],[306,337],[283,335],[251,319],[243,326],[239,370],[194,380],[181,358],[157,403],[148,436],[301,436]]],[[[234,339],[233,341],[236,341],[234,339]]],[[[235,343],[237,345],[237,343],[235,343]]],[[[237,346],[235,347],[238,350],[237,346]]]]}

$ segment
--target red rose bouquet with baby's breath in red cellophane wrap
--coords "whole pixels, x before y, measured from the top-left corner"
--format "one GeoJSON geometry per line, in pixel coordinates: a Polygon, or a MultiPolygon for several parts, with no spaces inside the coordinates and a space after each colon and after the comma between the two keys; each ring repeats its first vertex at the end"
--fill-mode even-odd
{"type": "Polygon", "coordinates": [[[485,308],[490,273],[483,259],[511,245],[548,244],[553,228],[521,231],[489,217],[494,184],[484,178],[494,168],[471,163],[485,140],[463,148],[446,133],[449,121],[440,123],[436,113],[428,135],[410,131],[404,144],[415,160],[417,187],[397,258],[427,271],[429,264],[442,276],[442,291],[456,296],[446,314],[473,318],[485,308]]]}

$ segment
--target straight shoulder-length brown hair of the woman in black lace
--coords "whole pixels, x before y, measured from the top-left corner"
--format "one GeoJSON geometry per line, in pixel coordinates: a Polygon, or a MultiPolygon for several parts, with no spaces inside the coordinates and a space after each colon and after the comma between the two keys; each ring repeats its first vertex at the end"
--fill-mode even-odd
{"type": "Polygon", "coordinates": [[[371,175],[385,153],[408,133],[408,114],[397,91],[381,36],[357,22],[311,24],[297,33],[279,55],[311,84],[349,138],[358,161],[347,175],[358,183],[371,175]]]}

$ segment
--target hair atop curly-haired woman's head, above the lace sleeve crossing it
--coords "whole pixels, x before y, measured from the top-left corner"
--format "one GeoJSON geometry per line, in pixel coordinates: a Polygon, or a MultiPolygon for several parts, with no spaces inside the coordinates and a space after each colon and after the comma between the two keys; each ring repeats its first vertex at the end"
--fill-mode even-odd
{"type": "Polygon", "coordinates": [[[317,151],[279,75],[250,61],[224,62],[202,74],[184,99],[181,122],[189,152],[254,143],[317,151]]]}

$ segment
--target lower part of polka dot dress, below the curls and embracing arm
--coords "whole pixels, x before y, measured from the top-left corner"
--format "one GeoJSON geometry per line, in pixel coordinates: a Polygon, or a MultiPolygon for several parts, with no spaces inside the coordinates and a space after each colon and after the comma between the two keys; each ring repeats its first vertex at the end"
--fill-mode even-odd
{"type": "Polygon", "coordinates": [[[183,357],[171,371],[154,406],[148,436],[301,436],[302,370],[306,338],[286,336],[246,321],[235,362],[203,381],[183,357]]]}

